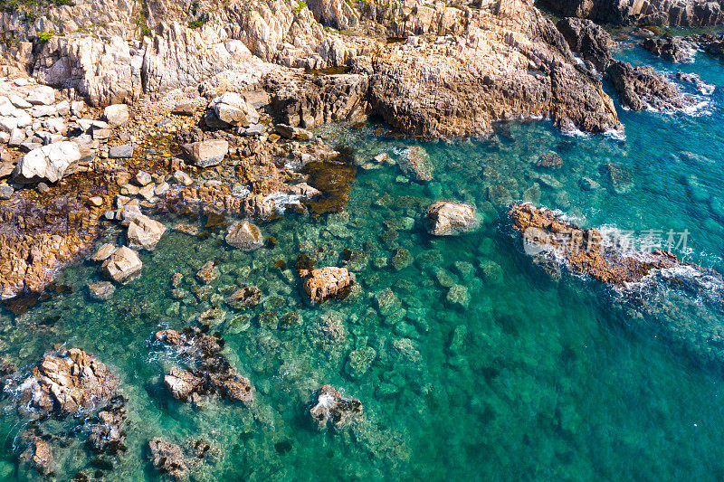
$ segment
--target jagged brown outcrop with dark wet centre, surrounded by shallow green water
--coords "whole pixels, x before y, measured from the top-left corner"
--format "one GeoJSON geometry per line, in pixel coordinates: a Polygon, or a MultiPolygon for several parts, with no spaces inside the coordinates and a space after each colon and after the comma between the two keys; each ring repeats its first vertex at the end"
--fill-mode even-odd
{"type": "Polygon", "coordinates": [[[172,346],[189,365],[186,371],[173,367],[164,378],[168,391],[178,400],[200,402],[202,396],[218,393],[243,403],[253,401],[252,383],[237,374],[221,353],[224,349],[222,338],[205,335],[195,327],[182,332],[159,331],[156,338],[172,346]]]}

